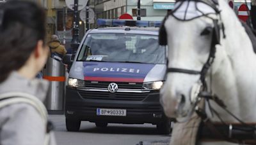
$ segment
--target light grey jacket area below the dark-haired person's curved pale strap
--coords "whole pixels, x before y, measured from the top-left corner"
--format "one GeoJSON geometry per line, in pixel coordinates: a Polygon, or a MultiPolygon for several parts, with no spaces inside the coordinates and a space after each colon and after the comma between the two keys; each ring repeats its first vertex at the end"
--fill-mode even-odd
{"type": "MultiPolygon", "coordinates": [[[[16,103],[0,109],[0,118],[5,120],[2,133],[4,142],[9,144],[41,144],[44,142],[45,123],[35,107],[26,103],[16,103]],[[29,139],[29,140],[28,140],[29,139]],[[19,143],[18,143],[19,142],[19,143]]],[[[0,141],[1,144],[1,141],[0,141]]]]}

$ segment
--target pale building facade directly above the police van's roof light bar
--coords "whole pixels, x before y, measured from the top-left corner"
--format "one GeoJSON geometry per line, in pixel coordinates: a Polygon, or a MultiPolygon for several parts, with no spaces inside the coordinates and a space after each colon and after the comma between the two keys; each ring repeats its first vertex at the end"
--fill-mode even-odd
{"type": "MultiPolygon", "coordinates": [[[[141,20],[163,20],[174,0],[141,0],[141,20]]],[[[137,17],[138,0],[95,0],[95,18],[118,18],[124,13],[137,17]]]]}

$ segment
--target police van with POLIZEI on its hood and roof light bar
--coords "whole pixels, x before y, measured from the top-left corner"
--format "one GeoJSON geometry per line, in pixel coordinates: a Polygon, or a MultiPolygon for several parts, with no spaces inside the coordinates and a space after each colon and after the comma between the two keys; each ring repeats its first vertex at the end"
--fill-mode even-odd
{"type": "Polygon", "coordinates": [[[152,123],[170,134],[171,120],[159,103],[166,72],[166,46],[159,46],[161,22],[99,19],[79,45],[65,93],[68,131],[81,121],[152,123]]]}

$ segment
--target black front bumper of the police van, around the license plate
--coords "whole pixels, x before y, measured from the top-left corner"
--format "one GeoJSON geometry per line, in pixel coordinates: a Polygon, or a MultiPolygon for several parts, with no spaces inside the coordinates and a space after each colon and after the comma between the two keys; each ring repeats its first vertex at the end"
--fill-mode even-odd
{"type": "Polygon", "coordinates": [[[67,87],[65,95],[66,118],[108,123],[152,123],[163,120],[159,91],[148,93],[109,93],[77,90],[67,87]],[[126,116],[97,116],[97,108],[126,109],[126,116]]]}

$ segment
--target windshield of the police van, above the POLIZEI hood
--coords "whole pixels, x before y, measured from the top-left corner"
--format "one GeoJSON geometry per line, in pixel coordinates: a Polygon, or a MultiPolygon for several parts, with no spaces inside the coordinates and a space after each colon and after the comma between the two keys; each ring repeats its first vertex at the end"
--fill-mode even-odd
{"type": "Polygon", "coordinates": [[[78,61],[166,63],[166,46],[159,46],[157,35],[93,33],[88,34],[78,61]]]}

